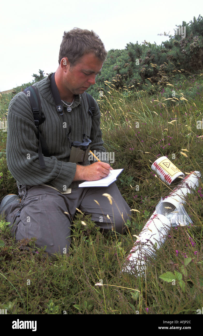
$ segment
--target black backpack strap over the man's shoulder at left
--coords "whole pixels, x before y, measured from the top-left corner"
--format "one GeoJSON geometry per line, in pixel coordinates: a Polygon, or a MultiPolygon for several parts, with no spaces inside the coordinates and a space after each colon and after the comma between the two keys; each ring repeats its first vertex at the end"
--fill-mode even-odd
{"type": "Polygon", "coordinates": [[[31,105],[31,108],[32,108],[32,112],[33,112],[33,118],[34,118],[35,126],[37,127],[37,130],[38,130],[37,138],[39,140],[38,156],[39,156],[40,167],[42,169],[45,169],[46,165],[45,165],[45,162],[44,162],[43,154],[45,156],[49,156],[49,153],[48,153],[46,140],[41,135],[41,132],[39,130],[39,125],[42,124],[45,120],[44,115],[41,113],[41,103],[40,103],[39,95],[38,95],[37,90],[35,89],[34,86],[27,87],[23,92],[29,98],[30,105],[31,105]],[[43,151],[43,154],[42,154],[42,151],[43,151]]]}

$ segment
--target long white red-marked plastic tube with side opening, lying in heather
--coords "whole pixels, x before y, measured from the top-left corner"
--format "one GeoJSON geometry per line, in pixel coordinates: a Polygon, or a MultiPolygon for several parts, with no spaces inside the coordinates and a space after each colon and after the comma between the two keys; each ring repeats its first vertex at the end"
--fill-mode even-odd
{"type": "Polygon", "coordinates": [[[161,198],[156,210],[141,230],[127,256],[123,267],[124,272],[133,273],[137,276],[145,275],[147,259],[149,256],[156,256],[156,249],[159,249],[166,241],[171,225],[192,223],[183,207],[183,203],[186,203],[187,194],[198,187],[200,176],[200,172],[192,172],[164,200],[161,198]]]}

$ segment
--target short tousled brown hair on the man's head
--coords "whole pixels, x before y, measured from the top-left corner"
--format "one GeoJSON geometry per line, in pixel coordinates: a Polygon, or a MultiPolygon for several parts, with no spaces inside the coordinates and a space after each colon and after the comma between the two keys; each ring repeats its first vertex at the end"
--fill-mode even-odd
{"type": "Polygon", "coordinates": [[[75,27],[69,32],[64,32],[58,63],[60,64],[63,57],[67,57],[71,66],[74,66],[83,55],[89,52],[93,52],[103,62],[107,56],[103,42],[93,30],[75,27]]]}

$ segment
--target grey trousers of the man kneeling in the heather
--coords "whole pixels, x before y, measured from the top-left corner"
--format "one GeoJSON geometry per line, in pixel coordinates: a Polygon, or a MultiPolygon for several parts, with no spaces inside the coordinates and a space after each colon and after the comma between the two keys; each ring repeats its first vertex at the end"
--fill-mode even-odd
{"type": "Polygon", "coordinates": [[[104,232],[113,226],[117,233],[124,233],[124,224],[131,215],[115,182],[108,187],[72,188],[71,194],[61,194],[45,185],[20,185],[18,192],[21,203],[11,204],[4,210],[11,233],[16,240],[36,237],[35,246],[46,245],[48,255],[68,252],[76,208],[85,215],[91,213],[91,220],[104,232]],[[106,196],[102,196],[105,193],[113,197],[112,205],[106,196]]]}

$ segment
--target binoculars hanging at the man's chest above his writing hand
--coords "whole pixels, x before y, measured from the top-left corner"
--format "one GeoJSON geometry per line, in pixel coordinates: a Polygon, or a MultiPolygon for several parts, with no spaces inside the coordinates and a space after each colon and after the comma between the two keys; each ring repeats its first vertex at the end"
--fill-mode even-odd
{"type": "Polygon", "coordinates": [[[71,155],[69,162],[85,166],[89,156],[90,139],[84,138],[83,142],[73,141],[71,143],[71,155]]]}

